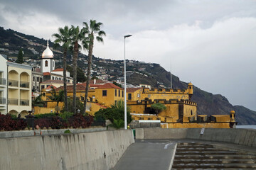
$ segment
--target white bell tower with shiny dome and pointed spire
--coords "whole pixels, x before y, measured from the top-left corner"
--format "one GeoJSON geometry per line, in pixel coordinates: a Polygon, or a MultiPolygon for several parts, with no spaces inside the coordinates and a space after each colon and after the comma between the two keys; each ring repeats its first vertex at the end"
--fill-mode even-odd
{"type": "Polygon", "coordinates": [[[49,48],[49,42],[47,40],[46,50],[43,51],[41,58],[41,72],[51,72],[55,69],[55,62],[53,60],[53,52],[49,48]]]}

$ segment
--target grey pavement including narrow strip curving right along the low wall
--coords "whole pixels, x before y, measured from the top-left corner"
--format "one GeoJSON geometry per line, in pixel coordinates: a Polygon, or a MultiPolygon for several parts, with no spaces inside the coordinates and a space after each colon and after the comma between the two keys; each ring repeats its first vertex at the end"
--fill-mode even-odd
{"type": "Polygon", "coordinates": [[[202,140],[136,140],[130,145],[112,170],[169,170],[174,158],[176,143],[201,142],[222,149],[238,150],[256,155],[256,147],[235,145],[226,142],[208,142],[202,140]]]}

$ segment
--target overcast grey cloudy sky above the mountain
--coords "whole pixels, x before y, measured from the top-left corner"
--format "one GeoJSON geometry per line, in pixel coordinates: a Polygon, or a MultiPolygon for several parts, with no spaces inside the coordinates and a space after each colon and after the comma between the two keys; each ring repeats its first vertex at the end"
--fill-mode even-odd
{"type": "Polygon", "coordinates": [[[256,111],[255,0],[1,0],[0,26],[38,38],[96,19],[107,37],[94,55],[161,64],[233,105],[256,111]]]}

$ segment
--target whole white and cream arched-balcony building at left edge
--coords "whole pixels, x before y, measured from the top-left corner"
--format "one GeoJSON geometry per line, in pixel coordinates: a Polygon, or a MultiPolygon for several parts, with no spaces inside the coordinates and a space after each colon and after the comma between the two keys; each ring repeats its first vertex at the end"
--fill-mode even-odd
{"type": "Polygon", "coordinates": [[[24,117],[31,111],[31,71],[25,64],[8,62],[0,55],[0,112],[24,117]]]}

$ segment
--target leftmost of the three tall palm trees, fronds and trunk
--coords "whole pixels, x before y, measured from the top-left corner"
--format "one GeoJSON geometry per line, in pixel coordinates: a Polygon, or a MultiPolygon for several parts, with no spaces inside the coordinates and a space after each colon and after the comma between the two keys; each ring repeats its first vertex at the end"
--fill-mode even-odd
{"type": "Polygon", "coordinates": [[[68,95],[67,95],[67,52],[70,47],[70,30],[68,26],[58,28],[58,33],[53,34],[55,45],[61,45],[63,48],[63,81],[64,81],[64,110],[68,111],[68,95]]]}

